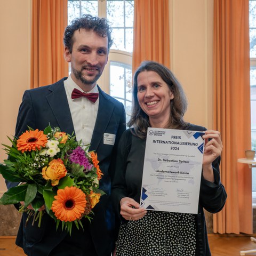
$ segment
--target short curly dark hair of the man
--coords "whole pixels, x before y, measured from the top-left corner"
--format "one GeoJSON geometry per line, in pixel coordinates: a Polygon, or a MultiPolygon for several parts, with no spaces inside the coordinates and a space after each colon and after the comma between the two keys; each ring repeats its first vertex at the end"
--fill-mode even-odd
{"type": "Polygon", "coordinates": [[[108,51],[113,44],[111,39],[110,23],[105,18],[93,17],[90,14],[84,14],[81,18],[76,18],[71,21],[65,29],[63,42],[64,45],[68,48],[69,52],[72,53],[73,49],[73,35],[76,30],[81,28],[89,29],[95,31],[99,36],[108,37],[108,51]]]}

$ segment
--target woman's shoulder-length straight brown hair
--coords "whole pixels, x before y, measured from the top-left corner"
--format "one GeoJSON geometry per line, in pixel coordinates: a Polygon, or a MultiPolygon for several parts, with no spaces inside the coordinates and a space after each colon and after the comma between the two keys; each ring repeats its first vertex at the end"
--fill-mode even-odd
{"type": "Polygon", "coordinates": [[[129,127],[133,127],[132,132],[139,138],[145,139],[147,137],[147,129],[150,127],[148,115],[141,109],[137,97],[138,93],[138,75],[143,71],[154,71],[156,72],[163,81],[169,86],[169,89],[174,94],[174,99],[171,100],[171,112],[169,118],[169,124],[167,127],[170,129],[185,129],[188,125],[183,120],[183,115],[187,110],[187,99],[185,92],[183,91],[179,81],[164,65],[155,61],[143,61],[140,67],[135,71],[133,78],[133,106],[131,119],[128,122],[129,127]]]}

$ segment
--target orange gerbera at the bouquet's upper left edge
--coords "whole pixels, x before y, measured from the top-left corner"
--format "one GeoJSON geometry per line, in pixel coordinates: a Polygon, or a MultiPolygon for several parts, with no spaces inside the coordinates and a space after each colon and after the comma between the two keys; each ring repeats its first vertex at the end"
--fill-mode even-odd
{"type": "Polygon", "coordinates": [[[17,140],[17,148],[22,153],[45,147],[47,137],[43,131],[36,129],[35,131],[26,131],[22,133],[17,140]]]}

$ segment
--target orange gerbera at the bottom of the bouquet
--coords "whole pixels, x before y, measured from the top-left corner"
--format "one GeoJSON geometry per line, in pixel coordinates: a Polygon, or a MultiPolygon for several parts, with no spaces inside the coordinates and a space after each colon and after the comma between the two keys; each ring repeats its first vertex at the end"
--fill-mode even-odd
{"type": "Polygon", "coordinates": [[[77,187],[58,189],[52,211],[61,221],[74,221],[81,218],[86,206],[85,194],[77,187]]]}

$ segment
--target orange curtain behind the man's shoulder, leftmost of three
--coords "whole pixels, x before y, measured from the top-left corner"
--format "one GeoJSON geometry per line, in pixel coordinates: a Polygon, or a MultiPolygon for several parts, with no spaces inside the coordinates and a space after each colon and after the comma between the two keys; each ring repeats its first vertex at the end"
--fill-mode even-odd
{"type": "Polygon", "coordinates": [[[63,33],[68,20],[67,0],[33,0],[30,88],[68,76],[63,58],[63,33]]]}

